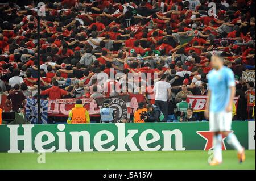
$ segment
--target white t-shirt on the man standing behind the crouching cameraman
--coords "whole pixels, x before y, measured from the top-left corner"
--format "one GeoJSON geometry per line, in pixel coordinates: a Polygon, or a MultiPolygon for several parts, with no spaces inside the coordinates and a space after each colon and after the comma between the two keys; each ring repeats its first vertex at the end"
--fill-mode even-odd
{"type": "Polygon", "coordinates": [[[154,92],[155,100],[167,101],[168,99],[168,88],[171,89],[170,83],[166,81],[158,81],[155,83],[154,92]]]}

